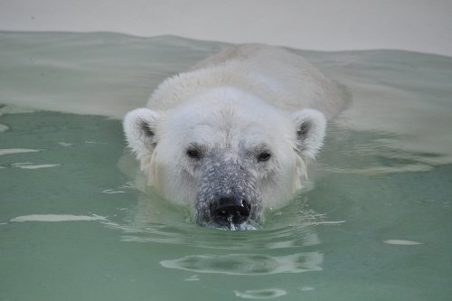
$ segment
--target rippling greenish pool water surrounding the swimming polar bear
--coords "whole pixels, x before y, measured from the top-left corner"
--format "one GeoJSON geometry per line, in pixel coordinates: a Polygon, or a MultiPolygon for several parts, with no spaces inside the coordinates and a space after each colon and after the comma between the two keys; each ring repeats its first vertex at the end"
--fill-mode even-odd
{"type": "Polygon", "coordinates": [[[146,191],[119,118],[227,46],[0,33],[0,300],[449,300],[452,58],[303,52],[353,94],[258,230],[146,191]]]}

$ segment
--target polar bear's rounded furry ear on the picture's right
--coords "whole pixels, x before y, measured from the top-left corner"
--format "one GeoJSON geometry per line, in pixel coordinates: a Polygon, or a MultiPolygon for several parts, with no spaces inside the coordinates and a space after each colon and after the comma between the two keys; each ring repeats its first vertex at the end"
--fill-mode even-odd
{"type": "Polygon", "coordinates": [[[314,159],[324,143],[325,115],[316,109],[302,109],[294,113],[293,120],[297,131],[297,151],[314,159]]]}

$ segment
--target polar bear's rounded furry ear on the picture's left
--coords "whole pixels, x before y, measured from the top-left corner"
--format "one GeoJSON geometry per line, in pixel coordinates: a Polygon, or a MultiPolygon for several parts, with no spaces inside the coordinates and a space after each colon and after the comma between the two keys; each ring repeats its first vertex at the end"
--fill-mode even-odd
{"type": "Polygon", "coordinates": [[[138,159],[151,155],[157,144],[156,125],[159,114],[149,108],[137,108],[127,113],[123,127],[127,144],[138,159]]]}

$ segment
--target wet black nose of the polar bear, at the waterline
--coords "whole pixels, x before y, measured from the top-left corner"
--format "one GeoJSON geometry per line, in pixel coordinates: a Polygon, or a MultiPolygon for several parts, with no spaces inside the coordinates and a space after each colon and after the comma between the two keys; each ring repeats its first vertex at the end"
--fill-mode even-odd
{"type": "Polygon", "coordinates": [[[241,198],[221,197],[210,206],[213,221],[223,224],[240,224],[250,218],[251,203],[241,198]]]}

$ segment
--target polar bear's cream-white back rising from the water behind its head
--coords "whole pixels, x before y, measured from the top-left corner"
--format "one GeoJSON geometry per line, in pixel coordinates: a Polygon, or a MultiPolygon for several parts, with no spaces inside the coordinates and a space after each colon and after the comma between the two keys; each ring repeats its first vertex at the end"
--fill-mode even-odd
{"type": "Polygon", "coordinates": [[[316,108],[332,118],[346,105],[347,93],[302,56],[260,44],[228,48],[190,71],[165,80],[148,108],[165,110],[218,87],[244,89],[276,108],[316,108]]]}

